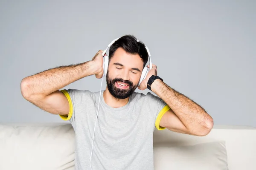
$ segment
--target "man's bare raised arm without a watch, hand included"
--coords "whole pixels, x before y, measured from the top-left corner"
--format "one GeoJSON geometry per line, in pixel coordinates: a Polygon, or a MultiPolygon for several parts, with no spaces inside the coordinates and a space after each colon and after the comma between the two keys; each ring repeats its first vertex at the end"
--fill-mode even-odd
{"type": "Polygon", "coordinates": [[[67,97],[59,91],[83,77],[103,74],[103,57],[100,50],[93,60],[77,65],[52,68],[38,74],[25,77],[20,83],[22,96],[52,114],[68,115],[70,111],[67,97]]]}

